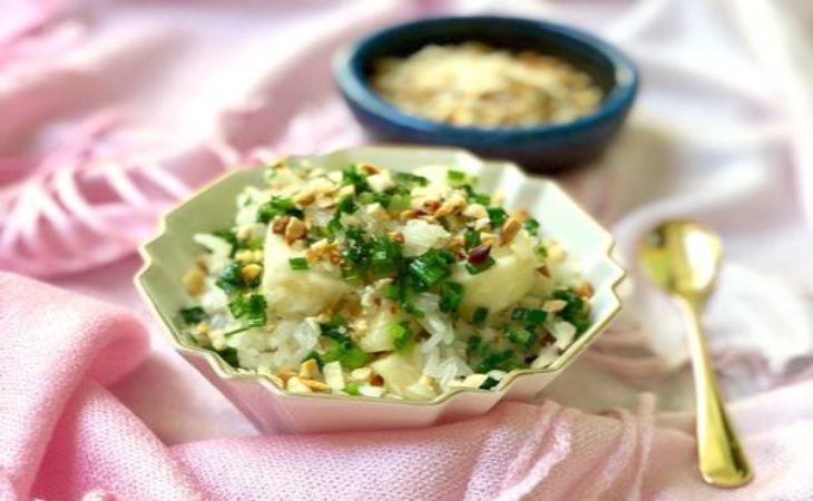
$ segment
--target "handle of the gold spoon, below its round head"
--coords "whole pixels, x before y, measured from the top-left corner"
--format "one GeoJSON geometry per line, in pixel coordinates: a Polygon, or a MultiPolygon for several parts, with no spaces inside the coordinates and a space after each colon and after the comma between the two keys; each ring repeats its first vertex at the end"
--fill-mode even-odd
{"type": "Polygon", "coordinates": [[[688,331],[697,401],[697,458],[706,483],[734,488],[746,484],[751,463],[725,411],[717,376],[701,325],[702,301],[679,298],[688,331]]]}

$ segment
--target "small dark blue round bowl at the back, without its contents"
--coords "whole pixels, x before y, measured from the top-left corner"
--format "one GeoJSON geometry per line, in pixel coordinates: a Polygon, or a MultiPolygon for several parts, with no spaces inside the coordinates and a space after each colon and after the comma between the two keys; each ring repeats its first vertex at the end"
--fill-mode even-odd
{"type": "Polygon", "coordinates": [[[336,57],[334,78],[356,119],[376,140],[460,146],[538,171],[571,167],[600,155],[624,122],[638,89],[633,62],[596,37],[550,22],[492,16],[424,19],[373,32],[336,57]],[[567,124],[487,129],[405,114],[369,85],[381,58],[409,56],[429,43],[464,41],[564,59],[592,77],[604,90],[604,102],[596,112],[567,124]]]}

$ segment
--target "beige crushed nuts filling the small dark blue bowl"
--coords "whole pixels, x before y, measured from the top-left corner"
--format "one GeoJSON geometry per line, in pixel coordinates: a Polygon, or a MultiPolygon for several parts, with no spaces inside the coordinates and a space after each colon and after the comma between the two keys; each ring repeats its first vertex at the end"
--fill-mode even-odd
{"type": "Polygon", "coordinates": [[[588,73],[559,58],[479,42],[384,58],[372,85],[409,114],[486,128],[568,122],[594,112],[603,99],[588,73]]]}

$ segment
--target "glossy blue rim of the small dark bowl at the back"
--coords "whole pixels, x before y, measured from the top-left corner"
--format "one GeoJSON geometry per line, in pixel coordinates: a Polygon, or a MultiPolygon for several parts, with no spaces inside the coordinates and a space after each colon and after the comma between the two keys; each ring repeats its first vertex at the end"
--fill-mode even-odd
{"type": "Polygon", "coordinates": [[[373,31],[366,37],[341,50],[334,59],[333,70],[336,85],[342,94],[344,94],[345,98],[347,98],[353,105],[361,107],[364,111],[381,120],[424,134],[444,135],[458,139],[486,143],[516,141],[521,139],[539,138],[540,136],[561,137],[571,135],[594,125],[613,120],[616,116],[625,114],[626,110],[631,107],[638,90],[638,70],[635,63],[610,43],[568,26],[537,19],[508,16],[438,17],[392,24],[373,31]],[[360,53],[365,47],[375,45],[381,38],[393,32],[406,31],[415,27],[428,24],[458,22],[516,23],[526,29],[537,29],[545,31],[547,35],[567,38],[580,43],[589,50],[600,52],[601,56],[607,58],[614,68],[616,85],[605,97],[598,110],[585,117],[577,118],[576,120],[565,124],[546,124],[532,127],[526,126],[490,129],[482,127],[454,126],[403,112],[381,98],[379,94],[370,87],[362,71],[362,61],[359,60],[360,53]]]}

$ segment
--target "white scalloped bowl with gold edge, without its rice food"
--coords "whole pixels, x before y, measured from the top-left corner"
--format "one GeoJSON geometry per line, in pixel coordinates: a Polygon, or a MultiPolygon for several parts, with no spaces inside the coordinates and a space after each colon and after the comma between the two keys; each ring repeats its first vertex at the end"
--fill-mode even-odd
{"type": "Polygon", "coordinates": [[[482,160],[468,151],[445,148],[370,146],[322,156],[290,157],[294,166],[341,169],[365,161],[409,171],[425,165],[448,165],[480,179],[486,191],[502,191],[506,207],[525,207],[541,233],[557,239],[581,264],[595,295],[591,326],[545,369],[509,373],[493,390],[454,389],[433,401],[413,402],[296,394],[257,374],[238,373],[216,353],[196,346],[183,333],[178,310],[188,305],[182,275],[200,247],[193,235],[231,224],[234,200],[246,185],[263,185],[263,169],[235,170],[208,185],[169,212],[157,237],[141,246],[145,265],[136,286],[164,323],[178,352],[266,433],[390,430],[428,426],[484,414],[502,400],[531,402],[585,351],[620,310],[616,286],[625,275],[610,257],[611,236],[552,180],[528,177],[516,165],[482,160]]]}

